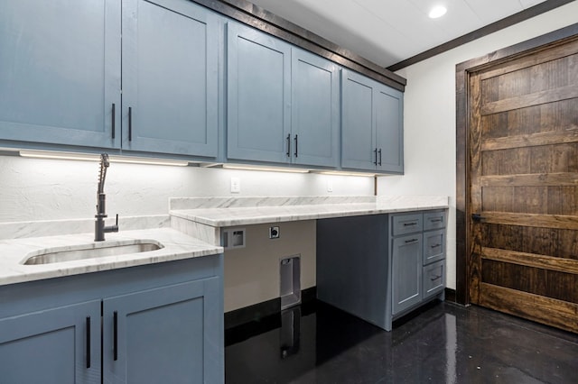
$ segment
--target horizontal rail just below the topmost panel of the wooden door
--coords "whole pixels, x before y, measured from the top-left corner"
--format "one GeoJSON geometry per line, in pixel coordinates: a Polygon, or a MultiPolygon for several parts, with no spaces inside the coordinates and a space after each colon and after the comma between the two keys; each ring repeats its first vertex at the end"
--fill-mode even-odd
{"type": "Polygon", "coordinates": [[[578,97],[578,87],[575,85],[548,89],[528,95],[515,96],[501,99],[481,106],[481,114],[497,114],[499,112],[512,111],[530,105],[541,105],[545,103],[555,103],[556,101],[567,100],[578,97]]]}

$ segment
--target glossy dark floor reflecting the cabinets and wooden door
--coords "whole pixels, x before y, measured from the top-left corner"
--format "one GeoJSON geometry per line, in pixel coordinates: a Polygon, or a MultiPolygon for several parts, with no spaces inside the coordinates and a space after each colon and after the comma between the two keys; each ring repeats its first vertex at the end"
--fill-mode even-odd
{"type": "Polygon", "coordinates": [[[578,334],[434,302],[390,333],[313,302],[225,334],[233,383],[578,383],[578,334]]]}

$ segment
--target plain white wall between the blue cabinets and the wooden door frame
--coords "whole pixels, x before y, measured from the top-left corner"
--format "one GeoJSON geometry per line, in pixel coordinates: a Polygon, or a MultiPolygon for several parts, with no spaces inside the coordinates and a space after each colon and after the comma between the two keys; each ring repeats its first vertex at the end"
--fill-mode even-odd
{"type": "Polygon", "coordinates": [[[578,1],[401,69],[407,79],[405,176],[379,178],[380,195],[450,196],[447,285],[455,288],[455,66],[578,23],[578,1]]]}

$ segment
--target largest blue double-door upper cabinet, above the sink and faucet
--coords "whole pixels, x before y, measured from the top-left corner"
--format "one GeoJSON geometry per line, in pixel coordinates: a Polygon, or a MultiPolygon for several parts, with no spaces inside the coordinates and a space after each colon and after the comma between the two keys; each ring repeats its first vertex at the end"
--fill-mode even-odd
{"type": "Polygon", "coordinates": [[[217,157],[219,25],[187,0],[2,2],[0,139],[217,157]]]}

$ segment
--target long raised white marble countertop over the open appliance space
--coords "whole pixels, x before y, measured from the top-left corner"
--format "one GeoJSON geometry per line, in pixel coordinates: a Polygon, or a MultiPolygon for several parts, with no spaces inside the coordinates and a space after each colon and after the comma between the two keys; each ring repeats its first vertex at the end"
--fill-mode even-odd
{"type": "Polygon", "coordinates": [[[247,198],[247,205],[241,199],[207,199],[198,203],[194,199],[191,209],[182,209],[187,206],[186,201],[180,199],[177,206],[181,209],[172,209],[171,215],[192,222],[214,227],[227,227],[247,224],[280,223],[299,220],[325,219],[353,215],[378,215],[394,212],[411,212],[426,209],[443,209],[448,207],[448,197],[354,197],[339,199],[325,198],[314,200],[309,198],[286,197],[256,200],[247,198]],[[211,206],[212,205],[212,206],[211,206]],[[210,207],[208,207],[210,206],[210,207]]]}

